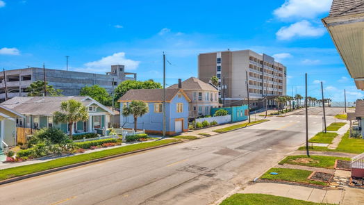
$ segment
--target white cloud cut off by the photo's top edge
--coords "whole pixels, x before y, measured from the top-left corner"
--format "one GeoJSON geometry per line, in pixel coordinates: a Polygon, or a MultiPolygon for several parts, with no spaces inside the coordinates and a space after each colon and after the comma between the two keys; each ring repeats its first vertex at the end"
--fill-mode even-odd
{"type": "Polygon", "coordinates": [[[273,13],[279,19],[314,19],[328,13],[331,3],[332,0],[286,0],[273,13]]]}

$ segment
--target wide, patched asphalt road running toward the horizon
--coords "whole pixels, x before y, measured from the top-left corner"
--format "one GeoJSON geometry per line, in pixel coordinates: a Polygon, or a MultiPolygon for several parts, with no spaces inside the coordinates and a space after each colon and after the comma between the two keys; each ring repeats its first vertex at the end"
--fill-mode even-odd
{"type": "MultiPolygon", "coordinates": [[[[0,186],[0,204],[211,204],[305,141],[304,115],[0,186]]],[[[310,136],[322,128],[310,116],[310,136]]],[[[328,123],[333,117],[328,117],[328,123]]]]}

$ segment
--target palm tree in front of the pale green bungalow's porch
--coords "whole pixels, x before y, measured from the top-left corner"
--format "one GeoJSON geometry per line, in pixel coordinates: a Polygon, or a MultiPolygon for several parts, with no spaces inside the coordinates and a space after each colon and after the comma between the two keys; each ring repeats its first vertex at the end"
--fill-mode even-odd
{"type": "Polygon", "coordinates": [[[88,120],[88,110],[80,101],[70,99],[60,104],[60,111],[54,112],[53,118],[56,123],[68,123],[69,136],[72,139],[74,122],[88,120]]]}

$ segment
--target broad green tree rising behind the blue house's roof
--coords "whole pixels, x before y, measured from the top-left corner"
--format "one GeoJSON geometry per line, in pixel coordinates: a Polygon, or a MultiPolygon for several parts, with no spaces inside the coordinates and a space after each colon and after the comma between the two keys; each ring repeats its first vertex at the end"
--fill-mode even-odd
{"type": "MultiPolygon", "coordinates": [[[[128,90],[131,89],[162,89],[162,85],[153,80],[148,81],[123,81],[115,88],[115,98],[114,101],[117,101],[120,97],[122,97],[128,90]]],[[[119,104],[117,104],[119,106],[119,104]]]]}

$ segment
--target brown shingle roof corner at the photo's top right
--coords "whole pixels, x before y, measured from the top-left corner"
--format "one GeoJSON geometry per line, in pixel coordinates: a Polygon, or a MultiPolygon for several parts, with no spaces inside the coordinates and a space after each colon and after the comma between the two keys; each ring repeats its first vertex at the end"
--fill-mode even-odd
{"type": "Polygon", "coordinates": [[[364,0],[333,0],[329,17],[364,13],[364,0]]]}

